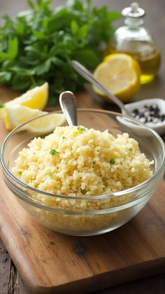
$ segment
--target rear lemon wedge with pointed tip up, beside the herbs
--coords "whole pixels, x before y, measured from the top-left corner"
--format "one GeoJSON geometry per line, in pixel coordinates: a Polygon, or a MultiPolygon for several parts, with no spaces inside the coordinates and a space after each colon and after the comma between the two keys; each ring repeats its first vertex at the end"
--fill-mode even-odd
{"type": "Polygon", "coordinates": [[[32,109],[43,110],[48,101],[48,83],[44,83],[42,86],[37,86],[31,90],[28,90],[26,93],[17,97],[11,101],[8,101],[4,104],[4,107],[1,108],[0,117],[5,117],[5,108],[9,105],[20,104],[21,106],[27,106],[32,109]]]}

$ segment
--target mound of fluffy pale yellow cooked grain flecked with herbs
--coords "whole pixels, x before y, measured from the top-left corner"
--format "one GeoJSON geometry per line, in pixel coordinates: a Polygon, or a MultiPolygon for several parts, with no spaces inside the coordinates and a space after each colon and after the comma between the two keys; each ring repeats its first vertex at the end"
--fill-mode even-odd
{"type": "MultiPolygon", "coordinates": [[[[12,172],[23,183],[75,198],[69,200],[34,193],[34,201],[68,211],[93,211],[120,206],[133,196],[126,194],[91,201],[85,198],[76,200],[76,197],[111,194],[137,186],[152,176],[150,165],[154,161],[150,162],[144,153],[140,153],[137,141],[129,138],[127,133],[115,138],[108,130],[101,132],[84,126],[65,126],[57,127],[44,139],[34,138],[28,148],[19,152],[15,163],[12,172]]],[[[50,227],[61,224],[63,229],[70,227],[74,230],[103,228],[120,214],[114,212],[109,217],[105,214],[65,216],[33,209],[42,223],[50,227]]]]}

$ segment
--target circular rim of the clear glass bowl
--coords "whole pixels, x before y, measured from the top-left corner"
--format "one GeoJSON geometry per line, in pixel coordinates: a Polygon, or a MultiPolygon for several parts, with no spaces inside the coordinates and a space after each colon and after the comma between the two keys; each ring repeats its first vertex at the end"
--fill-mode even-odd
{"type": "MultiPolygon", "coordinates": [[[[77,111],[80,112],[101,112],[101,113],[107,113],[107,114],[112,114],[115,116],[120,116],[120,117],[124,117],[124,118],[128,118],[131,121],[134,121],[135,123],[138,123],[141,126],[144,126],[145,128],[147,128],[150,132],[152,132],[154,134],[154,136],[157,137],[157,139],[159,140],[159,142],[161,143],[161,147],[163,150],[163,161],[160,165],[160,167],[158,168],[158,170],[146,181],[142,182],[141,184],[126,189],[126,190],[122,190],[119,192],[115,192],[115,193],[111,193],[111,194],[102,194],[102,195],[98,195],[98,196],[83,196],[83,197],[75,197],[75,196],[66,196],[66,195],[59,195],[59,194],[53,194],[53,193],[49,193],[49,192],[45,192],[42,190],[39,190],[37,188],[33,188],[25,183],[23,183],[22,181],[20,181],[16,176],[13,175],[13,173],[11,173],[11,171],[8,169],[8,167],[6,166],[6,163],[4,161],[4,148],[5,145],[8,141],[8,139],[13,135],[13,133],[15,133],[16,131],[18,131],[20,128],[22,128],[22,126],[25,126],[26,124],[28,124],[30,121],[34,121],[38,118],[40,118],[40,116],[36,117],[36,118],[32,118],[28,121],[26,121],[25,123],[22,123],[20,126],[17,126],[16,128],[13,129],[13,131],[11,131],[8,136],[4,139],[1,149],[0,149],[0,161],[1,161],[1,165],[4,169],[4,171],[6,171],[6,173],[8,174],[8,176],[15,181],[17,184],[21,185],[23,188],[29,189],[33,192],[39,193],[39,194],[43,194],[43,195],[47,195],[47,196],[51,196],[51,197],[58,197],[58,198],[64,198],[64,199],[76,199],[76,200],[92,200],[92,199],[103,199],[103,198],[112,198],[112,197],[117,197],[117,196],[122,196],[125,195],[127,193],[132,193],[135,192],[141,188],[143,188],[144,186],[148,185],[149,183],[151,183],[155,178],[157,178],[159,176],[159,174],[162,172],[164,166],[165,166],[165,144],[164,141],[162,140],[162,138],[159,136],[159,134],[152,128],[150,128],[149,126],[147,126],[144,123],[141,123],[140,121],[138,121],[137,119],[131,117],[131,116],[127,116],[124,115],[123,113],[118,113],[118,112],[114,112],[114,111],[109,111],[109,110],[104,110],[104,109],[94,109],[94,108],[77,108],[77,111]]],[[[49,112],[43,116],[47,116],[47,115],[51,115],[53,113],[62,113],[62,110],[58,110],[58,111],[53,111],[53,112],[49,112]]]]}

